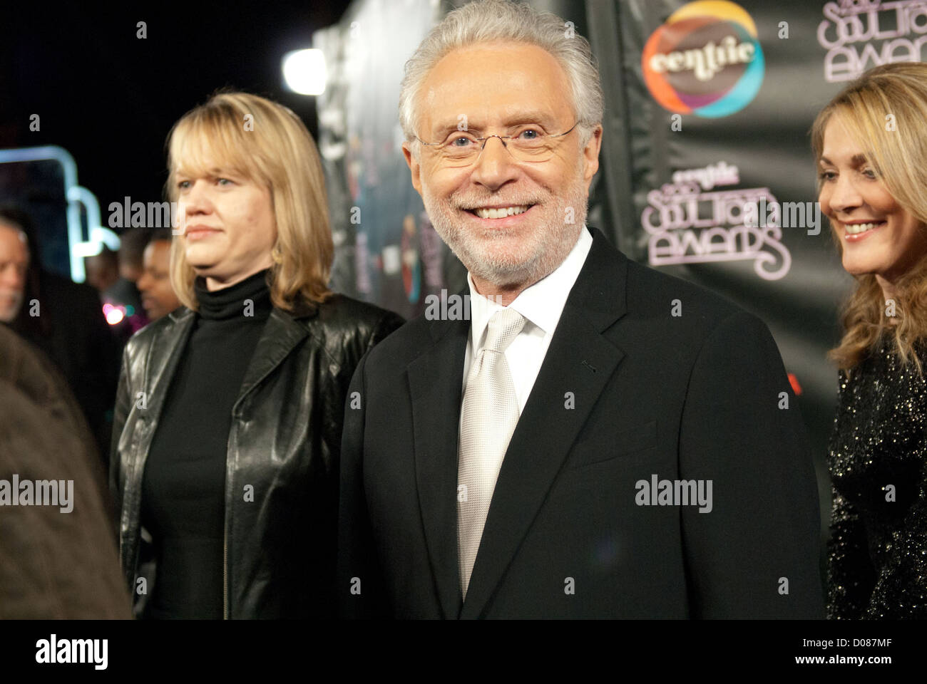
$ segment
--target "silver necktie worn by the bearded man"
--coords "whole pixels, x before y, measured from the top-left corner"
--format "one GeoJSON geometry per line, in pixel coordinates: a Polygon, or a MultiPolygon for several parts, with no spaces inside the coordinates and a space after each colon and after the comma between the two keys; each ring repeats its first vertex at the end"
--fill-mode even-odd
{"type": "Polygon", "coordinates": [[[518,399],[504,352],[525,323],[514,309],[496,311],[467,375],[457,461],[457,551],[464,598],[496,477],[518,423],[518,399]]]}

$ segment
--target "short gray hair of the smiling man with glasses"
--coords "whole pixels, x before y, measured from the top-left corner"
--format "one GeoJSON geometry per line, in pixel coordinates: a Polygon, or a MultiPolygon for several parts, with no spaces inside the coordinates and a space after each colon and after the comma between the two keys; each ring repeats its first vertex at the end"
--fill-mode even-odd
{"type": "Polygon", "coordinates": [[[573,95],[573,110],[580,130],[580,144],[589,142],[592,130],[602,123],[604,96],[599,70],[589,41],[572,25],[550,12],[538,12],[527,3],[477,0],[453,10],[435,26],[405,63],[400,86],[400,126],[413,144],[419,116],[415,101],[428,72],[451,50],[478,43],[510,41],[537,45],[563,67],[573,95]]]}

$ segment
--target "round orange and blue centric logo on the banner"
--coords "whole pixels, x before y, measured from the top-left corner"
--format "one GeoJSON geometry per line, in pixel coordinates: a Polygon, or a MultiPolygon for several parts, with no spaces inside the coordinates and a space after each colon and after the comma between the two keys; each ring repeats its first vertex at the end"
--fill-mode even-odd
{"type": "Polygon", "coordinates": [[[756,24],[742,6],[698,0],[679,7],[651,34],[641,70],[664,108],[714,119],[749,105],[766,67],[756,24]]]}

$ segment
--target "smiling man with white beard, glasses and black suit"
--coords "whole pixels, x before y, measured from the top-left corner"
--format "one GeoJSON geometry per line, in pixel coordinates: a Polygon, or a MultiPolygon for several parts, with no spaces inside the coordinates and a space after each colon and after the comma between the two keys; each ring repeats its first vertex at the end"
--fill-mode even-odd
{"type": "Polygon", "coordinates": [[[764,323],[585,225],[603,94],[564,19],[489,0],[406,63],[403,152],[468,270],[354,374],[346,617],[821,617],[819,505],[764,323]],[[652,479],[713,501],[641,505],[652,479]]]}

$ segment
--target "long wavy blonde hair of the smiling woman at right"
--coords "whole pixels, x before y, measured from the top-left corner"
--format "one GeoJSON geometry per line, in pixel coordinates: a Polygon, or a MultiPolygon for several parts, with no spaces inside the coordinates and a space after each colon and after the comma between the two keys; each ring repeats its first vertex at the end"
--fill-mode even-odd
{"type": "MultiPolygon", "coordinates": [[[[862,148],[867,162],[900,207],[927,231],[927,64],[899,62],[864,73],[834,96],[811,128],[811,145],[818,164],[824,130],[838,116],[847,133],[862,148]],[[895,121],[887,130],[888,115],[895,121]]],[[[818,180],[818,189],[823,179],[818,180]]],[[[832,237],[843,253],[833,225],[832,237]]],[[[844,336],[828,358],[850,372],[888,331],[901,361],[923,374],[914,345],[927,337],[927,258],[895,282],[895,324],[885,315],[883,290],[875,275],[857,276],[853,294],[844,302],[844,336]]]]}

